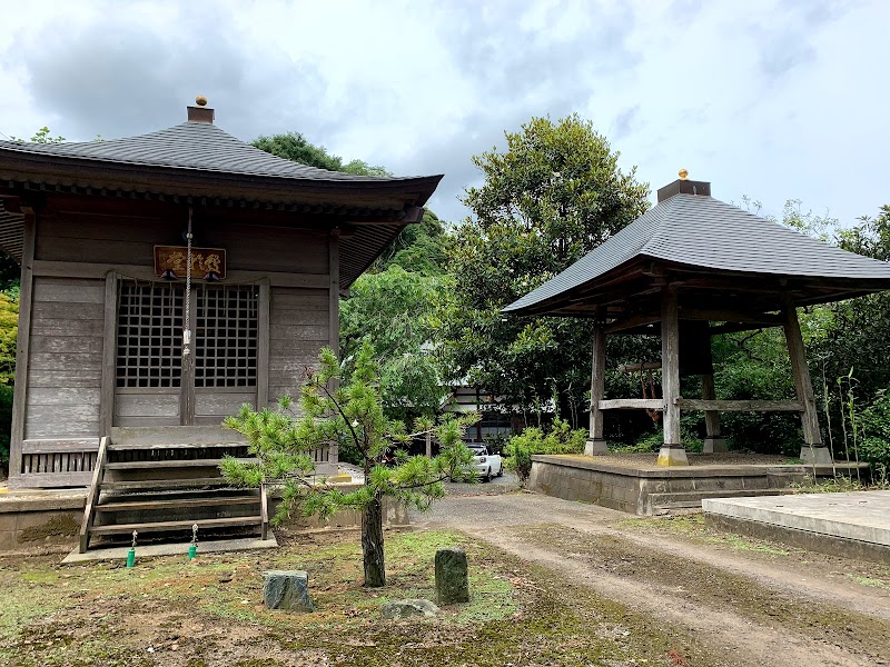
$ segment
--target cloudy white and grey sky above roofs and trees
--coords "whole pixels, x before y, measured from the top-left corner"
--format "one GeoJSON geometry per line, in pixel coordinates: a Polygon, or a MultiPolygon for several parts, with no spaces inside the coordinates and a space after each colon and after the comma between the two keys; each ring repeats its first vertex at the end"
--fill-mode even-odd
{"type": "Polygon", "coordinates": [[[534,116],[591,119],[653,190],[685,167],[763,212],[890,203],[889,0],[0,0],[0,132],[144,133],[207,96],[249,141],[296,130],[399,176],[444,173],[534,116]]]}

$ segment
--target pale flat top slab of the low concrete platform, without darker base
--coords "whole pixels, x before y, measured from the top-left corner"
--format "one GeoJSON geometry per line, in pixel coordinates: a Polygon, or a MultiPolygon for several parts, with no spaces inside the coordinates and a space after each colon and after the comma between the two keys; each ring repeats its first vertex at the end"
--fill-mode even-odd
{"type": "Polygon", "coordinates": [[[890,491],[702,500],[705,517],[781,526],[890,549],[890,491]]]}

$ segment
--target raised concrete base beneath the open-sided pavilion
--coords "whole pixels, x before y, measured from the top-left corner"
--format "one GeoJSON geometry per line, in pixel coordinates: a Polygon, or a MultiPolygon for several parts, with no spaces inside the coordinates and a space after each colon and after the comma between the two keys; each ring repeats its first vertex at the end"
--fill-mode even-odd
{"type": "MultiPolygon", "coordinates": [[[[802,465],[703,465],[701,455],[691,455],[694,465],[676,467],[659,467],[653,456],[634,459],[630,455],[629,462],[612,462],[616,458],[534,456],[528,488],[566,500],[652,516],[700,509],[703,498],[790,494],[793,482],[802,484],[813,475],[812,466],[802,465]]],[[[835,464],[835,468],[817,466],[815,475],[832,477],[834,469],[856,474],[854,466],[847,470],[835,464]]]]}

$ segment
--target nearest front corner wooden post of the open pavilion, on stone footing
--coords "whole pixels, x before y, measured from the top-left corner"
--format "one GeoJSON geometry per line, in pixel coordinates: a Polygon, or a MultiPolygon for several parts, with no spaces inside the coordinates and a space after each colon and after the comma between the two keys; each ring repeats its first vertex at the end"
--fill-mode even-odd
{"type": "Polygon", "coordinates": [[[668,286],[661,295],[661,375],[664,395],[664,445],[659,466],[688,466],[686,450],[680,441],[680,319],[676,287],[668,286]]]}

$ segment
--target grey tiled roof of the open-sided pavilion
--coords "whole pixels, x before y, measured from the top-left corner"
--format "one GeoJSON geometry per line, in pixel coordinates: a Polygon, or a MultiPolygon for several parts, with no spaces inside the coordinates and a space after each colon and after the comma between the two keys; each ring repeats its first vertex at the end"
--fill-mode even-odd
{"type": "Polygon", "coordinates": [[[504,310],[552,299],[637,257],[715,271],[890,281],[890,263],[829,246],[713,197],[675,195],[504,310]]]}

